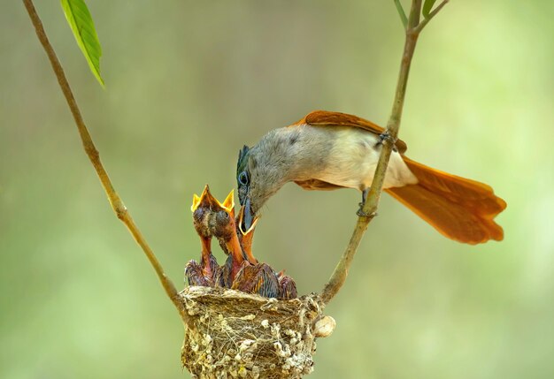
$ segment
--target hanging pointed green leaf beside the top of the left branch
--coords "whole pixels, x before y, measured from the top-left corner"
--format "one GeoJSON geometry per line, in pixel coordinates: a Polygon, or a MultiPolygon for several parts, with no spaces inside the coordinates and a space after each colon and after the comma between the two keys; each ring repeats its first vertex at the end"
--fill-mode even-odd
{"type": "Polygon", "coordinates": [[[100,76],[100,57],[102,48],[96,35],[96,29],[87,4],[84,0],[61,0],[65,19],[73,31],[75,40],[87,58],[90,71],[96,76],[100,85],[104,87],[104,80],[100,76]]]}

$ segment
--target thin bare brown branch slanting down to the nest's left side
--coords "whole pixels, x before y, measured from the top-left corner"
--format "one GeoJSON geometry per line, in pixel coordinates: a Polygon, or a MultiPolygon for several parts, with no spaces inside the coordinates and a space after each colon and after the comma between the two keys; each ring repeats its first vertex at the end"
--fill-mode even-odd
{"type": "Polygon", "coordinates": [[[112,186],[112,181],[108,177],[108,173],[104,170],[104,166],[100,162],[100,155],[98,154],[98,150],[96,150],[96,147],[92,141],[92,138],[88,133],[87,126],[85,125],[85,122],[81,116],[81,110],[79,110],[79,106],[77,105],[77,102],[73,97],[73,92],[71,90],[71,87],[69,87],[69,82],[67,81],[67,78],[65,78],[64,69],[62,68],[62,65],[59,63],[58,57],[56,56],[56,52],[50,45],[48,37],[46,36],[46,32],[44,31],[44,27],[42,27],[42,21],[39,18],[38,14],[36,13],[35,5],[33,4],[33,1],[23,0],[23,3],[27,8],[27,12],[29,13],[31,22],[35,27],[36,35],[42,44],[42,48],[44,48],[44,51],[46,51],[46,54],[50,59],[50,64],[52,65],[52,69],[54,70],[54,73],[58,78],[59,87],[61,87],[61,90],[64,93],[65,100],[67,101],[67,105],[69,106],[69,109],[73,114],[75,124],[77,125],[77,129],[79,130],[83,148],[85,149],[85,152],[88,155],[88,159],[90,160],[90,163],[92,163],[92,165],[94,166],[94,169],[96,170],[96,174],[98,175],[98,178],[100,178],[100,182],[104,187],[104,191],[108,196],[108,201],[110,201],[110,205],[112,206],[113,211],[115,212],[119,220],[121,220],[121,222],[123,222],[123,224],[127,226],[127,229],[133,235],[133,238],[135,239],[136,243],[142,247],[142,251],[144,251],[144,254],[146,254],[146,257],[150,261],[150,264],[156,271],[159,281],[164,287],[165,293],[167,294],[169,299],[172,300],[173,305],[177,307],[177,310],[181,314],[181,318],[183,320],[186,320],[187,315],[185,314],[181,306],[181,302],[179,301],[179,292],[177,292],[177,290],[175,289],[175,286],[173,285],[173,282],[171,281],[171,279],[169,279],[165,275],[164,269],[162,268],[160,262],[158,261],[158,258],[156,257],[152,249],[150,249],[150,246],[146,242],[146,239],[144,239],[141,231],[138,229],[138,227],[135,224],[135,221],[133,221],[133,218],[129,214],[127,207],[125,206],[125,204],[123,204],[123,201],[121,201],[121,199],[119,198],[118,193],[115,192],[115,189],[112,186]]]}

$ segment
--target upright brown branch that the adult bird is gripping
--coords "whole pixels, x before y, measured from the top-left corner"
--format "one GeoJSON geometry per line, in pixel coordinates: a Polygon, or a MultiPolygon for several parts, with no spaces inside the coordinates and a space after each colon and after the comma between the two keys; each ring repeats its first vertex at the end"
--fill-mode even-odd
{"type": "Polygon", "coordinates": [[[381,149],[381,155],[379,157],[379,163],[375,169],[373,176],[372,186],[367,195],[364,207],[362,211],[367,216],[359,216],[350,242],[341,260],[335,267],[335,271],[329,278],[327,284],[321,293],[321,299],[327,304],[335,295],[340,291],[342,284],[346,281],[348,276],[348,270],[354,255],[358,251],[359,243],[364,236],[365,230],[368,224],[373,220],[373,217],[377,215],[377,208],[379,206],[379,200],[381,198],[381,192],[383,183],[385,181],[385,173],[387,172],[387,166],[389,165],[390,154],[398,135],[398,128],[400,127],[400,120],[402,117],[402,110],[404,108],[404,97],[406,94],[406,85],[408,83],[408,74],[410,72],[410,66],[412,64],[413,52],[418,41],[419,32],[427,25],[429,19],[435,16],[435,14],[441,10],[442,6],[446,4],[448,0],[439,5],[435,11],[429,14],[428,19],[424,19],[419,23],[419,15],[421,14],[421,0],[412,0],[412,8],[410,16],[408,18],[408,26],[406,27],[405,42],[404,42],[404,54],[402,56],[400,64],[400,72],[398,74],[398,82],[396,84],[395,100],[392,105],[392,111],[390,113],[389,122],[387,123],[387,132],[390,138],[385,140],[381,149]]]}

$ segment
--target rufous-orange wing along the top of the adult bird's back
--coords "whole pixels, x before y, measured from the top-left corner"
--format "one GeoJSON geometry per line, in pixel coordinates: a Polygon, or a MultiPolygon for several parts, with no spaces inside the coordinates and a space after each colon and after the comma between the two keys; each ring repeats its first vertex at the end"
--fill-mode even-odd
{"type": "MultiPolygon", "coordinates": [[[[312,113],[308,114],[306,117],[302,118],[291,126],[303,124],[313,126],[352,126],[362,128],[367,132],[373,134],[381,134],[385,132],[385,129],[383,129],[381,126],[375,125],[371,121],[367,121],[364,118],[348,115],[341,112],[330,112],[327,110],[314,110],[312,113]]],[[[395,145],[400,154],[404,154],[404,152],[408,148],[404,140],[396,140],[395,145]]]]}

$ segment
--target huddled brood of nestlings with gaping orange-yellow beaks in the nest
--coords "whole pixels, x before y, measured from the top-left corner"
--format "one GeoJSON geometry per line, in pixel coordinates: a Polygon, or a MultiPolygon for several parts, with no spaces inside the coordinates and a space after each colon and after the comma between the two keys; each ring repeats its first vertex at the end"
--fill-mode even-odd
{"type": "Polygon", "coordinates": [[[258,218],[248,231],[242,231],[243,208],[235,218],[233,191],[222,203],[210,193],[208,186],[200,196],[194,195],[192,218],[200,237],[200,262],[190,261],[185,277],[190,285],[220,287],[258,294],[265,298],[295,299],[295,281],[277,273],[267,263],[258,262],[252,254],[252,239],[258,218]],[[227,254],[227,261],[219,266],[212,254],[212,237],[227,254]]]}

